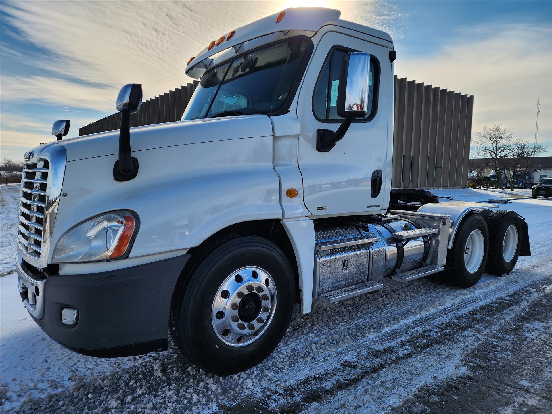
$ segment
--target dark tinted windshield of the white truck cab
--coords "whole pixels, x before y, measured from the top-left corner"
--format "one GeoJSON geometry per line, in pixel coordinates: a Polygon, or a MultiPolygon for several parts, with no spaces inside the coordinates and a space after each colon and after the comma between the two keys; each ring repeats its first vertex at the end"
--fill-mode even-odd
{"type": "Polygon", "coordinates": [[[290,39],[206,71],[182,120],[278,112],[301,75],[307,49],[306,40],[290,39]]]}

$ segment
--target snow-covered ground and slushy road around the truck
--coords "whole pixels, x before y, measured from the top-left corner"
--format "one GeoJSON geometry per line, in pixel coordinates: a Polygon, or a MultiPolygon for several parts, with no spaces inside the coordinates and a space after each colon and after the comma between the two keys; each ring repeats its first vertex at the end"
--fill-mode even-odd
{"type": "Polygon", "coordinates": [[[261,365],[225,378],[168,352],[96,359],[48,338],[19,299],[17,185],[0,185],[0,412],[552,412],[552,199],[527,190],[432,190],[509,198],[532,257],[459,289],[445,275],[296,309],[261,365]],[[515,194],[512,194],[515,193],[515,194]]]}

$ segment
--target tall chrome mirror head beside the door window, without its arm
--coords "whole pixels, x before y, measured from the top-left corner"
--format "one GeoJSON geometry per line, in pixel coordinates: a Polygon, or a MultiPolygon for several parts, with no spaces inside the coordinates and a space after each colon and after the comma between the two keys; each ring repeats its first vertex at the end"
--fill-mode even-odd
{"type": "Polygon", "coordinates": [[[370,81],[370,55],[346,53],[339,68],[337,115],[342,118],[364,118],[367,114],[370,81]]]}

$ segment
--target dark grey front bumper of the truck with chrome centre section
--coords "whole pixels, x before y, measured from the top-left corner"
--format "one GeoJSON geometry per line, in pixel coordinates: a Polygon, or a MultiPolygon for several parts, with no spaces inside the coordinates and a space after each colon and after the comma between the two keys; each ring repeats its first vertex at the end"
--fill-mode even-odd
{"type": "Polygon", "coordinates": [[[94,357],[167,349],[174,286],[190,255],[111,272],[41,276],[17,255],[19,292],[29,314],[54,341],[94,357]],[[61,321],[78,310],[75,325],[61,321]]]}

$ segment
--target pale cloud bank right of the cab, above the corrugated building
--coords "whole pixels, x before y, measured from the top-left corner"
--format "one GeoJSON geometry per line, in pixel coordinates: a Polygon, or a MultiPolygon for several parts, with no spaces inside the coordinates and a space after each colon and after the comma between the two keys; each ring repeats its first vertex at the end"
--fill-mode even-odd
{"type": "Polygon", "coordinates": [[[530,142],[534,140],[535,101],[540,92],[539,142],[551,140],[550,26],[501,24],[459,31],[432,56],[397,58],[395,73],[473,94],[473,131],[501,124],[530,142]]]}

